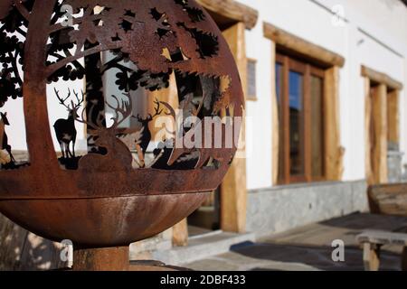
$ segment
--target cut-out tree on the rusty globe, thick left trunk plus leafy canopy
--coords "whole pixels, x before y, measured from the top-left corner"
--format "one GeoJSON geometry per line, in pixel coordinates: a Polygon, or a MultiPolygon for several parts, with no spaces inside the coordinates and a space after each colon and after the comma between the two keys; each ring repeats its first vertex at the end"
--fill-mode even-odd
{"type": "MultiPolygon", "coordinates": [[[[116,84],[125,92],[140,87],[152,91],[163,89],[168,86],[173,71],[180,79],[199,79],[197,75],[219,78],[222,75],[222,71],[213,71],[214,64],[208,65],[207,62],[224,56],[218,55],[217,36],[206,32],[208,26],[203,10],[192,1],[174,0],[173,3],[160,0],[2,1],[0,37],[6,45],[0,52],[4,67],[0,79],[0,101],[4,104],[7,98],[21,97],[24,93],[24,115],[32,162],[46,155],[42,152],[40,157],[38,152],[30,149],[33,143],[42,143],[49,150],[48,155],[53,146],[50,132],[45,132],[42,137],[35,134],[38,127],[48,126],[44,98],[46,83],[87,76],[88,106],[96,103],[102,111],[105,101],[101,75],[111,69],[118,70],[116,84]],[[62,25],[66,16],[63,5],[72,7],[71,26],[62,25]],[[99,12],[96,7],[101,8],[99,12]],[[47,17],[50,17],[49,22],[44,21],[47,17]],[[20,35],[14,37],[10,33],[20,35]],[[10,51],[12,49],[14,51],[10,51]],[[43,58],[39,51],[44,49],[46,55],[43,58]],[[102,51],[111,51],[113,59],[102,63],[99,59],[102,51]],[[26,61],[24,54],[41,57],[26,61]],[[133,65],[126,65],[128,62],[133,65]],[[16,69],[18,64],[23,66],[24,83],[16,69]],[[90,75],[94,78],[89,79],[90,75]],[[39,77],[45,79],[44,83],[39,83],[39,77]],[[92,89],[94,95],[90,93],[92,89]],[[38,97],[42,94],[43,97],[38,97]]],[[[181,93],[179,98],[180,102],[185,100],[185,94],[181,93]]],[[[228,102],[222,98],[217,99],[217,109],[228,102]]],[[[52,165],[52,159],[48,161],[52,165]]]]}

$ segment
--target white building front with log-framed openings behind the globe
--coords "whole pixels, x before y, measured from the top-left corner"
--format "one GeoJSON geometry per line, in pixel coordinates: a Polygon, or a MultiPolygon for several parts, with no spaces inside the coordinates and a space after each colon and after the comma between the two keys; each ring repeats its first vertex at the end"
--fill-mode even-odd
{"type": "MultiPolygon", "coordinates": [[[[368,211],[368,185],[402,182],[402,1],[200,2],[240,65],[248,117],[240,153],[246,157],[235,160],[213,200],[167,232],[169,247],[187,244],[188,233],[195,246],[211,228],[252,238],[368,211]]],[[[182,256],[172,251],[153,256],[182,256]]]]}

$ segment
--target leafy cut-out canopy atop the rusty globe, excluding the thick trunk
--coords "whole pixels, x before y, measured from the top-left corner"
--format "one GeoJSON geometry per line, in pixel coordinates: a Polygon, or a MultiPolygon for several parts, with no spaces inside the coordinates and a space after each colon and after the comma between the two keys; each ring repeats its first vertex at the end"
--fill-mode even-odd
{"type": "MultiPolygon", "coordinates": [[[[33,3],[34,0],[9,0],[2,1],[0,6],[3,23],[0,39],[4,43],[0,51],[0,62],[4,64],[1,71],[2,103],[8,97],[23,95],[18,64],[24,63],[24,41],[33,3]]],[[[104,73],[112,68],[120,70],[117,74],[120,89],[162,89],[167,86],[171,72],[170,62],[161,55],[164,49],[170,51],[174,59],[181,53],[188,55],[188,58],[205,58],[216,54],[215,36],[204,33],[198,26],[187,26],[187,21],[199,23],[204,20],[202,10],[188,6],[187,1],[175,0],[175,4],[185,10],[184,21],[169,17],[165,13],[166,4],[162,1],[149,1],[150,9],[139,9],[139,1],[125,3],[118,4],[111,0],[55,1],[48,29],[50,42],[46,45],[49,82],[82,79],[86,73],[86,63],[80,63],[81,58],[101,51],[114,51],[116,57],[112,61],[103,65],[99,63],[99,72],[104,73]],[[63,5],[71,5],[76,13],[73,15],[73,26],[61,24],[65,16],[63,5]],[[97,6],[102,7],[100,13],[95,13],[97,6]],[[185,37],[185,32],[190,37],[185,37]],[[124,42],[126,38],[131,41],[124,42]],[[185,42],[185,47],[180,48],[179,42],[185,42]],[[191,47],[196,49],[192,51],[191,47]],[[137,63],[138,70],[122,65],[130,60],[137,63]]]]}

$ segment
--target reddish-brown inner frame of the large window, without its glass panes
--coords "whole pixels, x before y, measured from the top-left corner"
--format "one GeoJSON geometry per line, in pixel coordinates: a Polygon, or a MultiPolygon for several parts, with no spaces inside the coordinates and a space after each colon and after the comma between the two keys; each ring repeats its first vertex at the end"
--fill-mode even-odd
{"type": "MultiPolygon", "coordinates": [[[[280,152],[283,154],[283,159],[279,160],[280,167],[282,168],[283,172],[279,173],[279,184],[290,184],[290,183],[298,183],[298,182],[323,182],[326,181],[326,173],[325,173],[325,127],[323,126],[321,129],[322,132],[322,144],[323,151],[322,159],[323,159],[323,168],[322,168],[322,175],[318,177],[312,176],[312,163],[310,158],[310,151],[312,146],[311,141],[311,77],[317,77],[325,81],[325,70],[317,68],[312,63],[308,61],[298,61],[287,54],[282,54],[277,52],[276,54],[276,63],[281,65],[281,73],[282,73],[282,87],[278,92],[280,95],[280,104],[279,104],[279,113],[282,114],[282,124],[280,124],[279,129],[282,130],[282,134],[279,133],[280,137],[282,136],[282,145],[280,152]],[[301,134],[301,158],[304,165],[304,174],[303,175],[291,175],[290,173],[290,155],[289,155],[289,71],[295,71],[303,76],[303,95],[302,95],[302,103],[303,109],[301,110],[300,118],[303,120],[301,121],[300,127],[300,134],[301,134]]],[[[322,101],[324,101],[324,89],[322,89],[322,101]]],[[[321,113],[323,118],[324,117],[324,104],[321,104],[321,113]]],[[[279,155],[281,158],[281,155],[279,155]]]]}

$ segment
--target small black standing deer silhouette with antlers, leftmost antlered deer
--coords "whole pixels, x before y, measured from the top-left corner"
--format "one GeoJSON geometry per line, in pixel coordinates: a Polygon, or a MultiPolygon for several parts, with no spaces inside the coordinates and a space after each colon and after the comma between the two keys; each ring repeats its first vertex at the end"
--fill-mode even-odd
{"type": "Polygon", "coordinates": [[[67,119],[58,119],[55,124],[53,125],[53,128],[55,130],[55,135],[57,137],[58,143],[61,145],[61,151],[62,151],[62,157],[63,158],[75,158],[75,144],[76,144],[76,136],[77,136],[77,131],[75,128],[75,119],[78,118],[77,115],[77,110],[78,108],[82,105],[84,101],[84,93],[82,91],[82,96],[81,99],[79,98],[78,93],[73,91],[73,94],[75,95],[75,98],[77,100],[77,103],[73,103],[71,101],[71,107],[69,105],[66,105],[66,101],[68,98],[71,97],[71,89],[68,89],[68,97],[66,98],[61,98],[59,95],[59,91],[57,89],[55,90],[56,97],[60,100],[60,104],[62,106],[66,107],[68,110],[68,118],[67,119]],[[70,148],[70,144],[72,144],[72,151],[70,148]]]}

